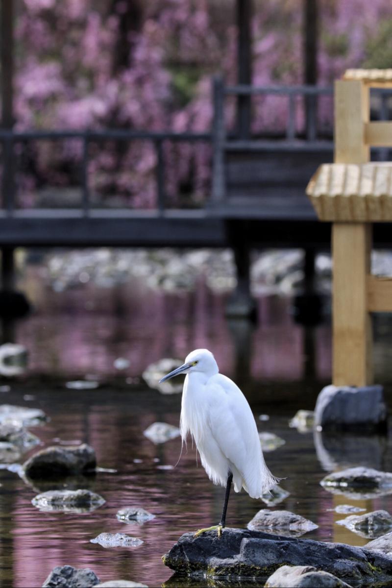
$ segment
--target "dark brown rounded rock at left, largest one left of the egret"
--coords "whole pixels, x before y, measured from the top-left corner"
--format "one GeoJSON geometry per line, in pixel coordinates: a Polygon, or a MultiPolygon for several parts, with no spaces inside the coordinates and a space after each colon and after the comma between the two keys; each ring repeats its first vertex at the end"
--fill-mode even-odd
{"type": "Polygon", "coordinates": [[[83,443],[79,447],[46,447],[24,463],[30,479],[48,479],[78,475],[95,470],[95,451],[83,443]]]}

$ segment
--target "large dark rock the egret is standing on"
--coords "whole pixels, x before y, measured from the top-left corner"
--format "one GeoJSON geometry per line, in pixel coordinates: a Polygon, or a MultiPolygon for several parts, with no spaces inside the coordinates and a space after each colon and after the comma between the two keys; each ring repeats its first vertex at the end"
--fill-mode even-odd
{"type": "Polygon", "coordinates": [[[196,538],[186,533],[163,556],[163,563],[182,574],[258,577],[264,581],[282,565],[305,565],[355,586],[392,583],[392,560],[368,549],[244,529],[224,529],[220,538],[213,531],[196,538]]]}

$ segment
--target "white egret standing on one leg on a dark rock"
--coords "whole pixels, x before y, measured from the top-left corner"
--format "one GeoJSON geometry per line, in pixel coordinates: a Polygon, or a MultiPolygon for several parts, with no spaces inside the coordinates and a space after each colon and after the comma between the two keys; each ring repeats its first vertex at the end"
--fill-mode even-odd
{"type": "Polygon", "coordinates": [[[185,363],[160,382],[185,373],[180,431],[183,442],[192,435],[202,465],[210,480],[226,486],[220,523],[200,529],[195,536],[216,529],[220,537],[226,524],[227,503],[232,483],[235,492],[243,488],[260,498],[279,478],[264,462],[259,433],[246,398],[232,380],[219,373],[214,356],[207,349],[189,353],[185,363]]]}

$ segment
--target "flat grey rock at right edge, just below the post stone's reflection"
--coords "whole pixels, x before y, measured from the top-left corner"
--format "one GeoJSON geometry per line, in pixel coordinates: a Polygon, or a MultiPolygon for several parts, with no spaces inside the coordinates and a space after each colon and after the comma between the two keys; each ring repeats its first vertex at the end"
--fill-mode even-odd
{"type": "Polygon", "coordinates": [[[349,467],[327,474],[320,484],[332,493],[367,499],[392,493],[392,473],[371,467],[349,467]]]}

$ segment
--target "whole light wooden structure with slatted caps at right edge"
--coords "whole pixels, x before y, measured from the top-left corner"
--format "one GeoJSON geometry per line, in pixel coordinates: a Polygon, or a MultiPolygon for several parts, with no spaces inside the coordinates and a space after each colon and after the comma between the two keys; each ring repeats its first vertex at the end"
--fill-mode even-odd
{"type": "Polygon", "coordinates": [[[307,186],[320,220],[333,222],[333,383],[373,383],[371,312],[392,312],[392,278],[370,273],[372,223],[392,221],[392,122],[370,122],[370,88],[392,88],[392,69],[350,69],[334,86],[334,163],[307,186]]]}

